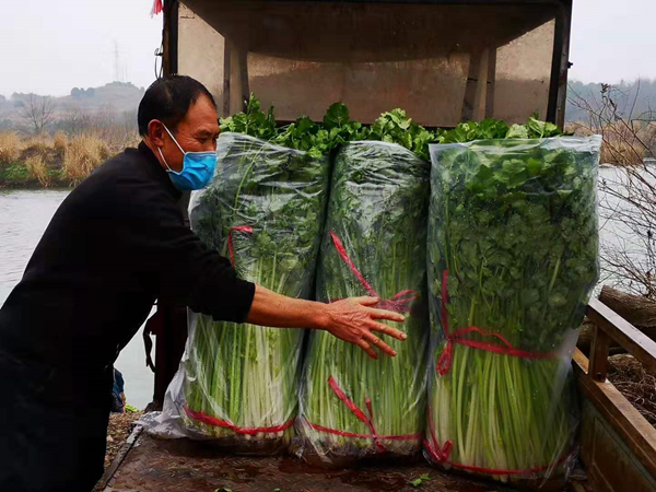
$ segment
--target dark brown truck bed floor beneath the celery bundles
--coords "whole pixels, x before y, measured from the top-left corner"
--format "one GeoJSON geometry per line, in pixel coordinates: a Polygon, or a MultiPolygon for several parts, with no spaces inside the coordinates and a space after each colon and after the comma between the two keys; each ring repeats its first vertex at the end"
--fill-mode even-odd
{"type": "MultiPolygon", "coordinates": [[[[105,492],[487,492],[509,491],[494,482],[447,475],[425,462],[411,466],[325,470],[289,456],[226,455],[202,443],[161,441],[136,427],[126,446],[105,472],[96,490],[105,492]],[[423,473],[430,481],[409,484],[423,473]]],[[[574,490],[574,489],[572,489],[574,490]]],[[[582,490],[582,489],[577,489],[582,490]]]]}

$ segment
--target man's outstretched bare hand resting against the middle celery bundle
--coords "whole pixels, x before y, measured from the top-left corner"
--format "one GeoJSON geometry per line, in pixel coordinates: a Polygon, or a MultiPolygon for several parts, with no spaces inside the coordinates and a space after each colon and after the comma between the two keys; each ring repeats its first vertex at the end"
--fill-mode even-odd
{"type": "Polygon", "coordinates": [[[328,323],[326,331],[329,331],[337,338],[353,343],[364,350],[371,358],[378,359],[372,345],[382,350],[390,356],[395,356],[396,351],[385,343],[374,333],[389,335],[397,340],[406,340],[408,337],[400,330],[391,328],[378,319],[401,323],[406,319],[403,315],[391,311],[376,309],[378,303],[376,297],[351,297],[338,301],[327,305],[328,323]]]}

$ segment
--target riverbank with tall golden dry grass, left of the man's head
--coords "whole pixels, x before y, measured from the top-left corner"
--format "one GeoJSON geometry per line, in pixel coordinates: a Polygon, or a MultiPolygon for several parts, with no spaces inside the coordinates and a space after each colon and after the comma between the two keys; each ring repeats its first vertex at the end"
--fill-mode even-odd
{"type": "Polygon", "coordinates": [[[69,188],[122,149],[93,134],[0,133],[0,189],[69,188]]]}

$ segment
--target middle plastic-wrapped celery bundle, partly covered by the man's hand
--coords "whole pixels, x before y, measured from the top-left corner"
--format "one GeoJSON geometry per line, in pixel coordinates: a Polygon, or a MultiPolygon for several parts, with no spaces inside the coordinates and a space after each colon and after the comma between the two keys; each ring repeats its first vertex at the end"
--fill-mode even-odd
{"type": "Polygon", "coordinates": [[[393,143],[352,142],[336,157],[317,300],[377,296],[379,307],[407,315],[398,327],[408,340],[387,337],[398,355],[373,360],[330,333],[311,333],[297,423],[307,461],[342,466],[421,453],[429,174],[427,162],[393,143]]]}

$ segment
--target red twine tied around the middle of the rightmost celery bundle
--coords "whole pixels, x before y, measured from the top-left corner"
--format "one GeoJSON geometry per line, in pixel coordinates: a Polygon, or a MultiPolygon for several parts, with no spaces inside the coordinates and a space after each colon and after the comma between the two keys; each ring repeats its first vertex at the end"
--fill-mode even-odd
{"type": "Polygon", "coordinates": [[[527,350],[516,349],[502,335],[483,331],[482,329],[480,329],[477,326],[469,326],[467,328],[460,328],[459,330],[454,331],[453,333],[449,332],[448,311],[446,309],[446,305],[448,303],[447,279],[448,279],[448,270],[445,270],[444,273],[442,274],[442,303],[441,303],[441,308],[440,308],[440,311],[441,311],[440,316],[442,318],[442,326],[444,328],[444,337],[446,339],[446,347],[444,348],[444,351],[442,352],[442,354],[440,355],[440,359],[437,360],[437,364],[435,367],[435,370],[437,371],[437,374],[440,374],[441,376],[444,376],[450,370],[450,366],[453,363],[454,343],[459,343],[461,345],[470,347],[472,349],[484,350],[487,352],[494,352],[494,353],[499,353],[499,354],[503,354],[503,355],[511,355],[514,358],[522,358],[522,359],[538,360],[538,359],[550,359],[553,356],[553,352],[536,352],[536,351],[527,351],[527,350]],[[502,344],[462,338],[462,336],[471,333],[471,332],[479,333],[481,337],[496,338],[497,340],[500,340],[502,342],[502,344]]]}

